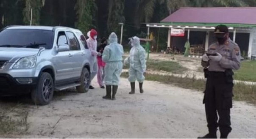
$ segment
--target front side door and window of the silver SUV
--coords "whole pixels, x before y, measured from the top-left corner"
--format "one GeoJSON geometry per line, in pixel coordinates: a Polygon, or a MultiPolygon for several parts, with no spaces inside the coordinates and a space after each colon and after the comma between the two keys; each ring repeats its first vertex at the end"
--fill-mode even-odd
{"type": "MultiPolygon", "coordinates": [[[[64,31],[58,31],[57,41],[58,46],[68,45],[68,39],[64,31]]],[[[71,52],[70,50],[57,52],[56,56],[53,58],[53,64],[56,68],[56,83],[67,82],[72,78],[73,68],[71,63],[71,52]]]]}

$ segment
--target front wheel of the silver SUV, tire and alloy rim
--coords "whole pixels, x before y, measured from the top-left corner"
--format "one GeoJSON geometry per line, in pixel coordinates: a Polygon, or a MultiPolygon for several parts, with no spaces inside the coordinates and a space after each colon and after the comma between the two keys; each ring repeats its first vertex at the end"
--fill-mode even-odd
{"type": "Polygon", "coordinates": [[[32,90],[31,98],[35,105],[47,105],[53,99],[54,82],[50,74],[43,72],[36,88],[32,90]]]}

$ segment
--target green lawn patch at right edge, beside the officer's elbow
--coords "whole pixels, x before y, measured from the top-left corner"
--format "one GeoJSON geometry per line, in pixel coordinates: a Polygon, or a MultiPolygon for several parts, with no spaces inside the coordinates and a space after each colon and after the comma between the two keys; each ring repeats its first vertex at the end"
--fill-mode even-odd
{"type": "Polygon", "coordinates": [[[248,82],[256,82],[256,61],[245,61],[241,63],[238,71],[235,71],[234,79],[248,82]]]}

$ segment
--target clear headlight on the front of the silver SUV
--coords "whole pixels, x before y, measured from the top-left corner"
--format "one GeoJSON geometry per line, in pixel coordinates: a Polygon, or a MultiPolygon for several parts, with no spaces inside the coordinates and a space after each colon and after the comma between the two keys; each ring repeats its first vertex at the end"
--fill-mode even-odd
{"type": "Polygon", "coordinates": [[[34,68],[35,65],[36,65],[36,57],[35,56],[23,57],[17,63],[15,63],[15,65],[13,66],[13,69],[34,68]]]}

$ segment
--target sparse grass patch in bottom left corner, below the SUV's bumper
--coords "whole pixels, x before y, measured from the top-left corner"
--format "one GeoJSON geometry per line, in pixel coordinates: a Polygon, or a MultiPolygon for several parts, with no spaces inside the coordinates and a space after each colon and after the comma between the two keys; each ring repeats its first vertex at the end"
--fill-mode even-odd
{"type": "Polygon", "coordinates": [[[28,111],[22,105],[0,105],[0,135],[25,134],[29,129],[28,111]]]}

